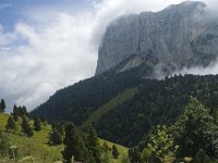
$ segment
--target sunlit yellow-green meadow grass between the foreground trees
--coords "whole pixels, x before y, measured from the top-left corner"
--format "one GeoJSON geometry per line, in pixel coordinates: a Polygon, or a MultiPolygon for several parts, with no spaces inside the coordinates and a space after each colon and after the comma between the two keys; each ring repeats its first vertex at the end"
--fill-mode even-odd
{"type": "MultiPolygon", "coordinates": [[[[5,126],[8,126],[10,117],[11,115],[9,114],[0,113],[0,162],[52,163],[62,160],[63,143],[52,145],[49,140],[53,126],[43,122],[40,129],[36,131],[34,121],[31,120],[28,123],[34,134],[28,136],[23,133],[22,118],[20,116],[15,122],[14,129],[7,129],[5,126]]],[[[126,148],[116,145],[120,156],[114,159],[111,154],[114,143],[99,139],[100,148],[104,145],[107,145],[108,149],[110,149],[108,154],[110,162],[120,163],[121,158],[128,155],[126,148]]]]}

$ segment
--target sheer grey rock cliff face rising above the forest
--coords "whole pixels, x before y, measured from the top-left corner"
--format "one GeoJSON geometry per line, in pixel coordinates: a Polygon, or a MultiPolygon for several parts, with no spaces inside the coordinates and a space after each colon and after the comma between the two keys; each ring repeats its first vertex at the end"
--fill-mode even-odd
{"type": "Polygon", "coordinates": [[[205,22],[205,9],[203,2],[186,1],[157,13],[117,18],[107,27],[99,47],[96,74],[129,58],[134,61],[121,71],[138,66],[143,62],[138,58],[148,54],[165,66],[207,66],[218,54],[218,23],[205,22]]]}

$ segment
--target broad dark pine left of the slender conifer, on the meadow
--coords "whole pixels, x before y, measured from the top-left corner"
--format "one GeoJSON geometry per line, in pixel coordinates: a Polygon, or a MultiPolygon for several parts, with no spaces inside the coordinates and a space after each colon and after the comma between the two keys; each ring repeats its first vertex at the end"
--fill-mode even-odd
{"type": "Polygon", "coordinates": [[[65,137],[63,139],[64,150],[62,151],[63,162],[71,163],[74,156],[75,161],[85,161],[85,146],[74,124],[69,123],[65,126],[65,137]]]}

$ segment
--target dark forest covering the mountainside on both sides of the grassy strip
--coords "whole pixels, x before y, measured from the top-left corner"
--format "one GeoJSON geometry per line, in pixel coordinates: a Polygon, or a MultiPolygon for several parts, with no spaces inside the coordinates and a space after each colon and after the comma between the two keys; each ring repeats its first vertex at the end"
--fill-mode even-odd
{"type": "Polygon", "coordinates": [[[92,112],[124,90],[137,87],[130,100],[114,106],[94,124],[101,138],[135,146],[157,124],[173,123],[190,98],[196,98],[211,114],[218,108],[218,75],[184,75],[161,80],[142,77],[137,70],[104,74],[59,90],[32,115],[81,125],[92,112]]]}

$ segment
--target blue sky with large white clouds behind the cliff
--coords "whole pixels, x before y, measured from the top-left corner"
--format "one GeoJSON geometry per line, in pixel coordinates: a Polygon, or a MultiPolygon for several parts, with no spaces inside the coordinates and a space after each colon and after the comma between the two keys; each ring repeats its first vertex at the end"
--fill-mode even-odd
{"type": "MultiPolygon", "coordinates": [[[[101,37],[117,16],[181,1],[0,0],[0,99],[8,111],[13,104],[35,109],[58,89],[94,76],[101,37]]],[[[216,1],[205,0],[213,10],[216,1]]]]}

